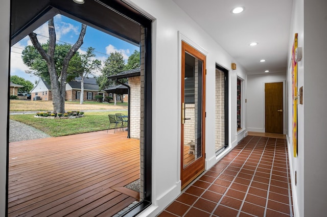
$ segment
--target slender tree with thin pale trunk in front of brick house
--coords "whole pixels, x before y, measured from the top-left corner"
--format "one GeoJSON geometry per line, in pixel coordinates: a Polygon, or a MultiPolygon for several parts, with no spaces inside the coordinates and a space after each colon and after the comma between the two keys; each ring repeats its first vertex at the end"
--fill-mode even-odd
{"type": "Polygon", "coordinates": [[[80,67],[76,67],[76,73],[81,77],[81,97],[80,104],[83,104],[84,100],[84,79],[88,77],[88,75],[94,74],[94,70],[100,69],[101,61],[100,60],[92,60],[96,55],[94,54],[95,48],[88,47],[85,54],[82,54],[80,57],[81,65],[80,67]]]}

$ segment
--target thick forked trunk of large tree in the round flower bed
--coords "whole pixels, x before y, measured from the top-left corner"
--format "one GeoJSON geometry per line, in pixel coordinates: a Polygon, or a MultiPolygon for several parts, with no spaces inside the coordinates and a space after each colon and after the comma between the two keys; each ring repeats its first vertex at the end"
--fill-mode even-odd
{"type": "MultiPolygon", "coordinates": [[[[41,57],[45,60],[46,66],[48,67],[50,83],[51,83],[51,90],[52,90],[52,98],[53,98],[53,107],[54,112],[56,113],[64,113],[65,111],[65,94],[66,94],[66,82],[67,82],[67,70],[69,61],[75,55],[76,51],[82,46],[83,39],[86,33],[86,25],[82,24],[81,32],[78,37],[76,43],[69,48],[68,52],[66,52],[63,59],[57,59],[55,56],[56,54],[56,31],[53,18],[51,18],[48,22],[49,26],[49,45],[48,49],[44,49],[43,46],[39,43],[36,34],[30,33],[29,37],[33,46],[37,49],[40,53],[41,57]],[[62,64],[56,65],[57,61],[62,61],[62,64]]],[[[34,54],[36,55],[36,54],[34,54]]],[[[35,61],[40,61],[36,59],[35,61]]],[[[32,65],[34,61],[32,61],[32,65]]],[[[42,65],[42,64],[40,64],[42,65]]],[[[29,66],[29,67],[31,67],[29,66]]],[[[44,67],[41,68],[34,68],[34,70],[38,72],[43,72],[44,67]],[[42,70],[39,70],[42,69],[42,70]]],[[[44,74],[45,75],[45,74],[44,74]]]]}

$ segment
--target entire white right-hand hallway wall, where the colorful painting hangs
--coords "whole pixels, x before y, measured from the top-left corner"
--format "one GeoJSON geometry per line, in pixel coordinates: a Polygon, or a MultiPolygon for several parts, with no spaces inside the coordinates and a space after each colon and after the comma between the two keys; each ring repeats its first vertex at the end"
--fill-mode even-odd
{"type": "MultiPolygon", "coordinates": [[[[303,86],[303,105],[298,105],[298,156],[292,156],[292,137],[289,152],[296,216],[324,216],[327,205],[327,146],[325,115],[327,2],[324,0],[297,0],[293,4],[289,57],[294,34],[298,33],[298,47],[303,49],[298,63],[298,88],[303,86]],[[295,171],[297,185],[295,186],[295,171]]],[[[288,61],[290,62],[290,60],[288,61]]],[[[290,66],[289,66],[290,67],[290,66]]],[[[290,73],[290,72],[289,72],[290,73]]],[[[288,73],[288,75],[289,75],[288,73]]],[[[288,85],[291,87],[291,77],[288,85]]],[[[289,99],[291,100],[291,88],[289,99]]],[[[292,132],[292,102],[289,100],[289,134],[292,132]]]]}

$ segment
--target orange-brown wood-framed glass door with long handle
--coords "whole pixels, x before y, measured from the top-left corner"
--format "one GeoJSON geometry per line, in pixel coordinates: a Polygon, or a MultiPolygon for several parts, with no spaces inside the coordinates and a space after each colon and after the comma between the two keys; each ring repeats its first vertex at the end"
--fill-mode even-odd
{"type": "Polygon", "coordinates": [[[181,184],[204,171],[205,56],[182,41],[181,184]]]}

